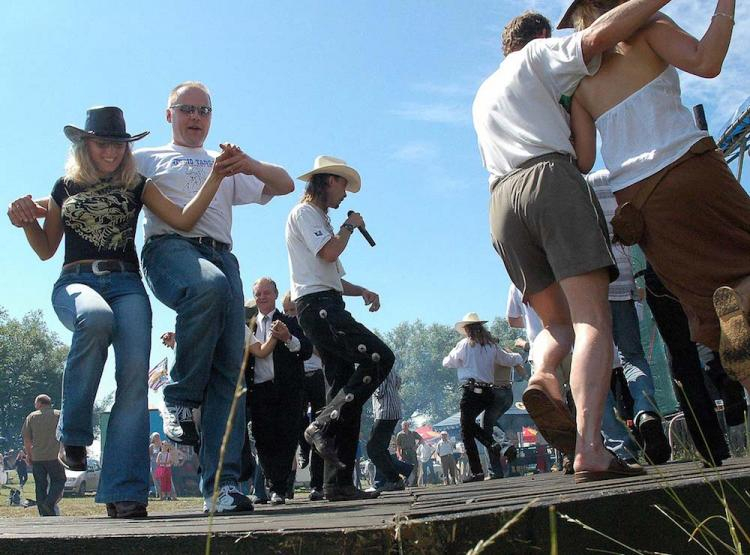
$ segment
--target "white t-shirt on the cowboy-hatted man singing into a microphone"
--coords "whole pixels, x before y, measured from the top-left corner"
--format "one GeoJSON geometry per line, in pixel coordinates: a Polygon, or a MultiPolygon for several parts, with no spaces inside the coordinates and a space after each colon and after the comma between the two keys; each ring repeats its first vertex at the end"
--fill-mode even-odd
{"type": "Polygon", "coordinates": [[[326,262],[318,252],[334,236],[325,213],[309,202],[292,208],[286,220],[286,248],[292,300],[331,289],[343,292],[341,261],[326,262]]]}

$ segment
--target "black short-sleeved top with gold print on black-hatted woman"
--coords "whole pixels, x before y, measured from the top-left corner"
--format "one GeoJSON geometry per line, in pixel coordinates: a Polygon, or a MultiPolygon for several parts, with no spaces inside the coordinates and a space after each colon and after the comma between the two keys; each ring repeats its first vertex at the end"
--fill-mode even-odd
{"type": "Polygon", "coordinates": [[[146,178],[126,189],[102,181],[82,186],[63,177],[52,189],[65,230],[65,262],[122,260],[138,264],[135,231],[146,178]]]}

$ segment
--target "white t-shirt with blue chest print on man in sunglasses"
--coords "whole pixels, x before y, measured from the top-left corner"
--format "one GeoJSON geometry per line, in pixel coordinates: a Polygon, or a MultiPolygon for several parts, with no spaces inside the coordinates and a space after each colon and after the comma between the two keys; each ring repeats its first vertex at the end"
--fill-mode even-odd
{"type": "MultiPolygon", "coordinates": [[[[219,154],[204,148],[188,148],[174,143],[157,148],[140,148],[133,153],[138,171],[152,179],[167,198],[181,207],[190,202],[201,188],[219,154]]],[[[272,195],[263,194],[264,186],[254,175],[237,174],[225,178],[206,212],[191,231],[174,229],[144,206],[145,239],[153,235],[178,234],[184,237],[211,237],[231,245],[232,206],[266,204],[272,195]]]]}

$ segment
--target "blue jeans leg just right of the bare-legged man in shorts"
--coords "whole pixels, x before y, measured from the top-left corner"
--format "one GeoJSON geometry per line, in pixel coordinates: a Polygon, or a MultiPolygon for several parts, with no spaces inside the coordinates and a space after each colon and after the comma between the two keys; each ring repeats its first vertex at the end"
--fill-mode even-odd
{"type": "Polygon", "coordinates": [[[635,421],[644,412],[658,414],[654,399],[654,380],[651,367],[641,344],[641,329],[635,303],[630,301],[610,301],[612,310],[612,336],[620,354],[620,362],[630,395],[633,397],[635,421]]]}

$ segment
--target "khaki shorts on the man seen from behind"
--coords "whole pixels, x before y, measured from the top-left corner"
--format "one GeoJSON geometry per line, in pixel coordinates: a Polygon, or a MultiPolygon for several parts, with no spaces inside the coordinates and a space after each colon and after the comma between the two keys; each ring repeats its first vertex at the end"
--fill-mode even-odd
{"type": "Polygon", "coordinates": [[[539,156],[493,183],[490,230],[524,298],[600,268],[617,279],[599,201],[567,155],[539,156]]]}

